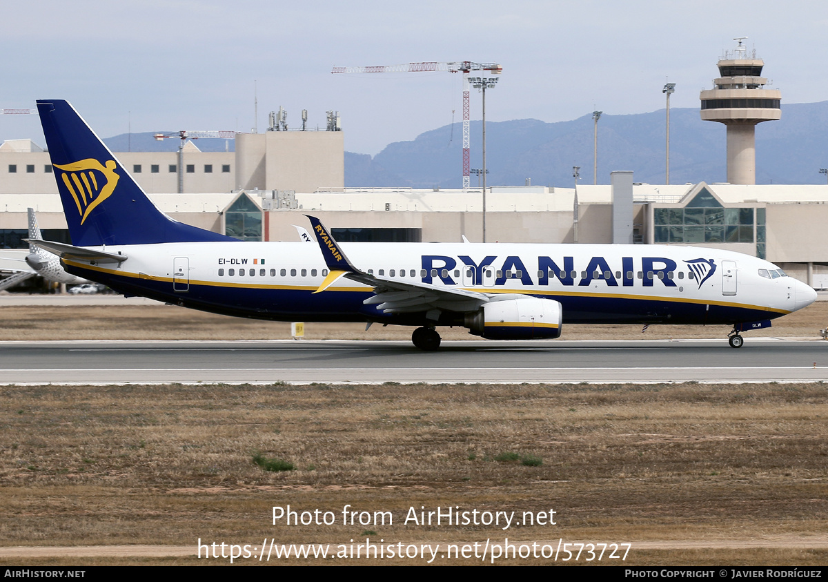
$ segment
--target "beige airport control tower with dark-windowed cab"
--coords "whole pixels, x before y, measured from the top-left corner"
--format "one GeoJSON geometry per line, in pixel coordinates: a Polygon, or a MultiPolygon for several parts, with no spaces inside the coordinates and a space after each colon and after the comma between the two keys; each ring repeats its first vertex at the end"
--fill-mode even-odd
{"type": "Polygon", "coordinates": [[[745,38],[734,38],[739,46],[719,61],[715,89],[700,95],[701,119],[727,125],[727,181],[731,184],[756,183],[755,126],[782,116],[782,95],[763,89],[768,80],[759,75],[765,63],[756,58],[756,51],[746,55],[745,38]]]}

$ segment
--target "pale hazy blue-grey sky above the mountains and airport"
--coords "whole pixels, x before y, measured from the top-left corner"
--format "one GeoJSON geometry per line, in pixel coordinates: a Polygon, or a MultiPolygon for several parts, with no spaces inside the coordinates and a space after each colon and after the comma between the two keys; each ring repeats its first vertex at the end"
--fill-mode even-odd
{"type": "MultiPolygon", "coordinates": [[[[828,3],[811,0],[420,2],[2,0],[0,108],[68,99],[102,137],[178,129],[250,131],[280,105],[289,126],[339,111],[345,148],[462,120],[460,75],[331,75],[412,61],[503,65],[487,120],[575,119],[699,106],[734,36],[765,60],[782,103],[828,99],[828,3]],[[452,111],[454,110],[454,114],[452,111]],[[454,117],[452,117],[454,115],[454,117]]],[[[472,119],[480,118],[473,91],[472,119]]],[[[458,131],[460,125],[457,126],[458,131]]],[[[0,140],[34,138],[36,115],[0,115],[0,140]]],[[[458,139],[460,136],[458,135],[458,139]]]]}

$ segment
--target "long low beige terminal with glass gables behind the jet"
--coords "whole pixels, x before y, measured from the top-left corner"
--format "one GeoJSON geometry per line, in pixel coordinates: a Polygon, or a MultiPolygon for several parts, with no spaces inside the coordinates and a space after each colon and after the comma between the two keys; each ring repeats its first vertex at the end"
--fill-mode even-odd
{"type": "MultiPolygon", "coordinates": [[[[2,156],[0,156],[2,160],[2,156]]],[[[480,190],[320,187],[151,194],[169,216],[243,240],[300,240],[305,214],[342,242],[483,240],[480,190]]],[[[25,248],[26,208],[46,238],[70,242],[56,192],[0,194],[0,246],[25,248]]],[[[697,245],[758,256],[816,288],[828,287],[828,186],[653,185],[614,172],[611,185],[487,188],[489,242],[697,245]],[[616,179],[617,177],[626,179],[616,179]]]]}

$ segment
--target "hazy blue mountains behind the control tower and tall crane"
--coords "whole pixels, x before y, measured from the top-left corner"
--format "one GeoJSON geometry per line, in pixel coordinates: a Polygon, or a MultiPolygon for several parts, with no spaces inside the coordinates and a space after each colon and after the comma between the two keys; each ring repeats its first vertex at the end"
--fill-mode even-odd
{"type": "MultiPolygon", "coordinates": [[[[598,183],[609,172],[633,170],[635,182],[665,182],[664,109],[645,114],[603,114],[598,121],[598,183]]],[[[486,123],[487,184],[571,187],[572,167],[580,183],[593,182],[592,115],[546,123],[538,119],[486,123]]],[[[818,184],[828,167],[828,101],[783,104],[782,119],[756,127],[756,183],[818,184]]],[[[481,167],[482,124],[471,123],[471,167],[481,167]]],[[[346,186],[462,186],[460,123],[391,143],[376,156],[345,153],[346,186]]],[[[702,121],[699,109],[670,109],[670,182],[725,182],[726,129],[702,121]]],[[[477,186],[478,177],[471,177],[477,186]]]]}

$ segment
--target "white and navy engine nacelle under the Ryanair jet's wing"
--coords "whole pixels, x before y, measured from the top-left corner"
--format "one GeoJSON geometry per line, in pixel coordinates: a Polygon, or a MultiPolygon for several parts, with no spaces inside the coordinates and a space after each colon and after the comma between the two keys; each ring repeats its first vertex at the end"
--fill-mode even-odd
{"type": "Polygon", "coordinates": [[[563,307],[553,299],[521,297],[485,303],[466,313],[469,333],[486,339],[555,339],[561,337],[563,307]]]}

